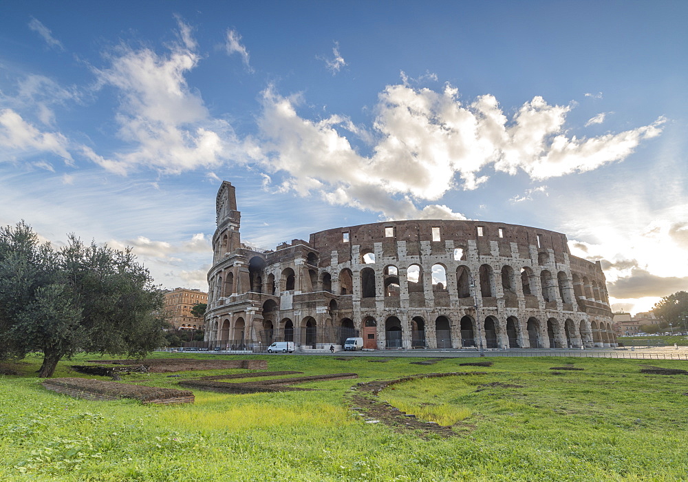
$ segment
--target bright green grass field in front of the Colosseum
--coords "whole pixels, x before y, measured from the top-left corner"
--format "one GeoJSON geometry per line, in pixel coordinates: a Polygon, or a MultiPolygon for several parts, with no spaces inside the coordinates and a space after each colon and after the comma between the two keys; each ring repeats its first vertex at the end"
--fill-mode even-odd
{"type": "MultiPolygon", "coordinates": [[[[196,355],[214,356],[219,355],[196,355]]],[[[301,384],[314,390],[299,392],[194,390],[193,406],[144,406],[56,395],[32,373],[40,359],[26,359],[12,366],[21,375],[0,376],[0,480],[688,479],[688,376],[641,374],[649,361],[495,357],[486,358],[494,362],[491,367],[466,367],[459,366],[466,358],[431,366],[410,363],[418,358],[267,359],[269,370],[354,372],[360,379],[301,384]],[[583,370],[550,370],[567,364],[583,370]],[[365,423],[348,407],[348,388],[358,381],[453,371],[486,375],[409,381],[379,397],[418,417],[453,423],[456,437],[398,433],[382,423],[365,423]]],[[[75,376],[67,373],[69,364],[63,362],[55,376],[75,376]]],[[[688,369],[678,361],[652,365],[688,369]]],[[[124,379],[178,388],[180,379],[246,371],[124,379]]]]}

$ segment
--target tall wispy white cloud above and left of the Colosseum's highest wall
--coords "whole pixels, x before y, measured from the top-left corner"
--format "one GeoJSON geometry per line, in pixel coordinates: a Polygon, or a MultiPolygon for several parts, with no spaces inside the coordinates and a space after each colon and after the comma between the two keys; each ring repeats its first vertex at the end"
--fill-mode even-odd
{"type": "Polygon", "coordinates": [[[110,66],[95,70],[100,87],[118,90],[118,135],[131,145],[110,158],[89,155],[99,165],[123,174],[138,165],[169,174],[212,167],[228,158],[235,143],[228,123],[213,119],[185,75],[200,60],[191,30],[180,21],[180,41],[167,54],[121,45],[109,54],[110,66]]]}

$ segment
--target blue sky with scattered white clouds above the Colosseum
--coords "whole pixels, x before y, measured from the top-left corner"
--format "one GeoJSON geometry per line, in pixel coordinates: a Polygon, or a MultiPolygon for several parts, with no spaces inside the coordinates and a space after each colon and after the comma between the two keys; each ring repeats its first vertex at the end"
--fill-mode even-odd
{"type": "Polygon", "coordinates": [[[612,309],[688,289],[686,1],[0,3],[0,225],[206,290],[242,241],[472,219],[566,233],[612,309]]]}

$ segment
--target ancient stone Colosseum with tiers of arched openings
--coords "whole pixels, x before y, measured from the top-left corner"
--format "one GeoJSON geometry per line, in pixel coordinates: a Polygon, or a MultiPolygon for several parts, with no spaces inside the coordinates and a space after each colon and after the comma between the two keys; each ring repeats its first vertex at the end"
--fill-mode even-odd
{"type": "Polygon", "coordinates": [[[500,222],[407,220],[241,243],[235,187],[217,193],[205,337],[216,350],[616,346],[599,262],[566,235],[500,222]]]}

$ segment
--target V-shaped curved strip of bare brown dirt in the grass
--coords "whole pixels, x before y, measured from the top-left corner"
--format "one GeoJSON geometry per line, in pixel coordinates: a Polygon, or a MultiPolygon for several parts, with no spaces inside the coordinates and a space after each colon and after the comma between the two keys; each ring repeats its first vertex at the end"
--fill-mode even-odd
{"type": "Polygon", "coordinates": [[[420,378],[455,377],[460,375],[485,375],[485,372],[468,373],[427,373],[425,375],[413,375],[396,380],[376,380],[368,381],[352,387],[350,408],[356,413],[365,417],[367,423],[384,423],[396,432],[411,431],[419,434],[424,439],[431,439],[433,436],[456,437],[457,432],[451,427],[441,426],[435,422],[418,420],[416,415],[407,414],[398,410],[385,401],[380,401],[378,394],[385,388],[420,378]]]}

